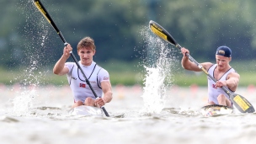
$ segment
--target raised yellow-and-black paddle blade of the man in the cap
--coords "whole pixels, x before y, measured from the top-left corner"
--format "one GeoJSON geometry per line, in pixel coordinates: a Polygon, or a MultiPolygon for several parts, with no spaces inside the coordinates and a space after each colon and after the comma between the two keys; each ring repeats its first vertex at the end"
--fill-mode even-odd
{"type": "Polygon", "coordinates": [[[152,33],[154,35],[157,35],[161,39],[167,41],[168,43],[177,46],[178,43],[173,39],[173,36],[168,33],[167,30],[163,29],[163,27],[159,24],[157,24],[154,21],[149,22],[149,29],[151,29],[152,33]]]}

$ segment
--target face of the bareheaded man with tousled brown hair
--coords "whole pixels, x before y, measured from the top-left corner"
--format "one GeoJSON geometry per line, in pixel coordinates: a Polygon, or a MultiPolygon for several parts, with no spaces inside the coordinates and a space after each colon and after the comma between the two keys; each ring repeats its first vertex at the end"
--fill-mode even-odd
{"type": "Polygon", "coordinates": [[[93,51],[90,47],[83,47],[77,51],[78,56],[80,56],[80,60],[84,66],[90,66],[92,64],[95,52],[96,51],[93,51]]]}

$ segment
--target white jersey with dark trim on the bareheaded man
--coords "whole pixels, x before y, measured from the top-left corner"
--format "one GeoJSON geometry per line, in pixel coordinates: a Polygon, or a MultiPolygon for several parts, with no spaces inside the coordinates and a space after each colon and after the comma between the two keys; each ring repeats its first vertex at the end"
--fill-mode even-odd
{"type": "MultiPolygon", "coordinates": [[[[81,61],[78,61],[80,67],[83,69],[85,76],[88,78],[91,83],[93,90],[98,97],[102,97],[103,91],[101,89],[101,82],[109,81],[109,72],[104,68],[99,67],[94,61],[88,67],[83,66],[81,61]]],[[[69,72],[67,73],[67,80],[72,89],[74,101],[82,101],[88,97],[95,99],[95,96],[85,81],[82,72],[77,67],[75,62],[66,62],[65,67],[68,67],[69,72]]]]}

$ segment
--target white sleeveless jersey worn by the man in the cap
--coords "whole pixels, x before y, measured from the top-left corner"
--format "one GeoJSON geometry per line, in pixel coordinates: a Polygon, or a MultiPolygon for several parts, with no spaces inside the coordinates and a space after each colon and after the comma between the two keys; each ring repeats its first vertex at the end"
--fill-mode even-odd
{"type": "MultiPolygon", "coordinates": [[[[217,65],[212,65],[209,70],[208,70],[208,73],[211,75],[211,77],[214,77],[214,70],[216,69],[217,65]]],[[[230,73],[230,72],[236,72],[233,68],[230,68],[222,77],[221,79],[217,80],[217,81],[226,81],[227,80],[227,75],[230,73]]],[[[214,102],[215,104],[219,104],[218,103],[218,100],[217,100],[217,97],[220,95],[220,94],[224,94],[227,99],[229,99],[229,96],[227,95],[227,93],[225,93],[225,91],[222,89],[222,88],[215,88],[215,85],[216,83],[211,80],[211,77],[207,77],[208,78],[208,96],[209,96],[209,99],[208,99],[208,102],[214,102]]],[[[225,86],[225,88],[227,88],[225,86]]],[[[229,88],[227,88],[229,89],[229,88]]],[[[230,90],[230,89],[229,89],[230,90]]],[[[231,91],[231,90],[230,90],[231,91]]],[[[231,93],[234,93],[231,91],[231,93]]]]}

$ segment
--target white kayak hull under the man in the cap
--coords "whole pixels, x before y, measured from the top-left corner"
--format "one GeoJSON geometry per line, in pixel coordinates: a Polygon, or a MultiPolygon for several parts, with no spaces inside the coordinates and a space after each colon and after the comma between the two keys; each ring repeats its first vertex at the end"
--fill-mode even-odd
{"type": "Polygon", "coordinates": [[[200,113],[204,116],[217,116],[232,114],[233,109],[224,105],[206,105],[200,109],[200,113]]]}

